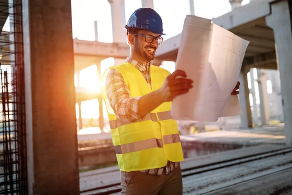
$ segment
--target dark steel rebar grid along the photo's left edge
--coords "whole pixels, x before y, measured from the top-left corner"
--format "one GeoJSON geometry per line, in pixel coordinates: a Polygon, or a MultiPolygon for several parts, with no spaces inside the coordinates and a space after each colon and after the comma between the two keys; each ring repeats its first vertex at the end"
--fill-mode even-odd
{"type": "Polygon", "coordinates": [[[0,0],[0,195],[28,194],[21,10],[0,0]]]}

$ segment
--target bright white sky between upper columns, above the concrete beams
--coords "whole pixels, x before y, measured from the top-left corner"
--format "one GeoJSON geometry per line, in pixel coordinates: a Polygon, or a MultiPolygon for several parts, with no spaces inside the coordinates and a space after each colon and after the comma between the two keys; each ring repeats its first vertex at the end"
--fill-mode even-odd
{"type": "MultiPolygon", "coordinates": [[[[112,42],[111,10],[108,0],[72,0],[73,38],[94,40],[94,20],[97,20],[98,40],[112,42]]],[[[242,5],[250,0],[243,0],[242,5]]],[[[154,9],[162,17],[164,40],[182,32],[183,21],[190,14],[189,0],[153,0],[154,9]]],[[[141,0],[125,0],[125,22],[141,0]]],[[[195,15],[217,18],[231,11],[229,0],[194,0],[195,15]]]]}

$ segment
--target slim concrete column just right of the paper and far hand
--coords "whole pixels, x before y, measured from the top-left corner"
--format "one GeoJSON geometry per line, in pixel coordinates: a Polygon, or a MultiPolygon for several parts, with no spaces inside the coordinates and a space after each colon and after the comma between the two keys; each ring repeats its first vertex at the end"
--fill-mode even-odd
{"type": "Polygon", "coordinates": [[[253,126],[252,113],[251,113],[251,107],[250,107],[250,102],[249,102],[247,73],[248,71],[246,71],[246,69],[243,67],[239,75],[239,82],[240,82],[239,102],[240,102],[240,106],[243,112],[243,115],[240,116],[242,128],[248,128],[248,127],[253,126]]]}

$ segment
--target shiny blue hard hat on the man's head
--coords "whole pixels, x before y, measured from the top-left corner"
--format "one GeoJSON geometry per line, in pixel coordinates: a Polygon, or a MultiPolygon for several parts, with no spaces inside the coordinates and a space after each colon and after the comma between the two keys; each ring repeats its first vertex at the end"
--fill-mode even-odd
{"type": "Polygon", "coordinates": [[[126,29],[129,27],[165,35],[163,32],[161,17],[151,8],[136,9],[130,16],[128,24],[125,26],[126,29]]]}

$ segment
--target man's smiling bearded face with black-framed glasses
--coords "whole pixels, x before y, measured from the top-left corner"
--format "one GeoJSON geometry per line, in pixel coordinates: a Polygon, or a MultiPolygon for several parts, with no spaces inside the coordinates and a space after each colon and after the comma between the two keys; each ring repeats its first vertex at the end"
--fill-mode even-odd
{"type": "MultiPolygon", "coordinates": [[[[158,34],[151,33],[146,30],[138,30],[136,34],[146,34],[158,37],[158,34]]],[[[151,61],[155,59],[155,52],[158,48],[157,40],[154,39],[151,43],[145,41],[145,36],[135,36],[133,49],[142,58],[151,61]]]]}

